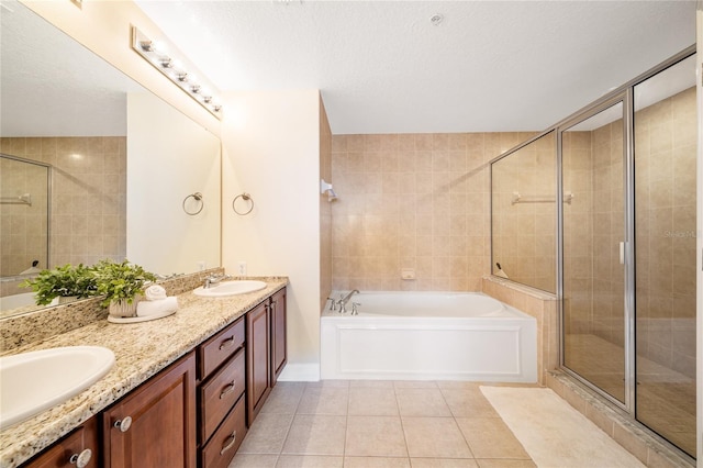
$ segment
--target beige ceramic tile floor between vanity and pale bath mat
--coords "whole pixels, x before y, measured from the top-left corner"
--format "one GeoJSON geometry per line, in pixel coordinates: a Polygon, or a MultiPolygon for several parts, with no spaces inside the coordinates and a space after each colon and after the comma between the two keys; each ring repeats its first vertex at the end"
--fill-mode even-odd
{"type": "Polygon", "coordinates": [[[230,468],[536,465],[472,382],[278,382],[230,468]]]}

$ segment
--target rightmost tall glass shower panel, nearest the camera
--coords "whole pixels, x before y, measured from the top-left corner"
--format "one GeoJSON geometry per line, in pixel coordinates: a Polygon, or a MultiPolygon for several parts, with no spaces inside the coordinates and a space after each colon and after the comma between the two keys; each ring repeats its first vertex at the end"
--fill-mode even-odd
{"type": "Polygon", "coordinates": [[[637,420],[695,457],[695,56],[634,88],[637,420]]]}

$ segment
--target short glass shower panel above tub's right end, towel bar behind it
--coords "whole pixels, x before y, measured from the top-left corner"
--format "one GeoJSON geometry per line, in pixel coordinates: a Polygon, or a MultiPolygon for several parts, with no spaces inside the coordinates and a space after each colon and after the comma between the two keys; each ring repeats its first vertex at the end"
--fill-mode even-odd
{"type": "Polygon", "coordinates": [[[493,275],[556,292],[556,201],[554,131],[491,164],[493,275]]]}

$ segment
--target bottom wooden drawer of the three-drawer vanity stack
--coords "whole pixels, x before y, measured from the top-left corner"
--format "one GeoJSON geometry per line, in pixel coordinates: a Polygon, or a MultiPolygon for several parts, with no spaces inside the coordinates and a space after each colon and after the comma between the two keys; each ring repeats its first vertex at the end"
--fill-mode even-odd
{"type": "Polygon", "coordinates": [[[227,414],[200,454],[202,468],[226,468],[246,435],[246,399],[242,398],[227,414]]]}

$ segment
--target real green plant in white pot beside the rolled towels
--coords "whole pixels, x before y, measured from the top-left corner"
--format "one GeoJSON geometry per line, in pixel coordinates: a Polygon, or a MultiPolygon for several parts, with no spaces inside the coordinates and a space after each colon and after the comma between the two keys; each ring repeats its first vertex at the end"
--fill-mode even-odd
{"type": "Polygon", "coordinates": [[[100,304],[110,308],[110,314],[114,316],[134,316],[144,287],[156,281],[156,275],[127,259],[121,263],[100,260],[94,266],[94,276],[98,294],[104,296],[100,304]]]}

